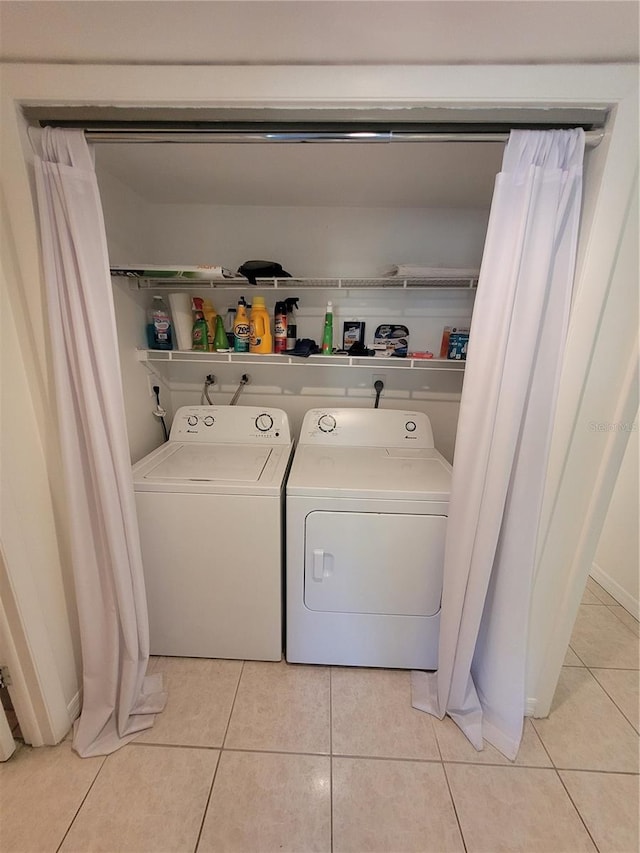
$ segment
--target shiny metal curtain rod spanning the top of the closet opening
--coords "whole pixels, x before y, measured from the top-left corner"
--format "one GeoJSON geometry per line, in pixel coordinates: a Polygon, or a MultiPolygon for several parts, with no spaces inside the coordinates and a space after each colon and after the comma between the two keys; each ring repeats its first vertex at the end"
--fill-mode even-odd
{"type": "MultiPolygon", "coordinates": [[[[507,142],[508,132],[433,132],[428,131],[237,131],[237,130],[85,130],[89,142],[215,143],[215,142],[507,142]]],[[[595,148],[604,130],[586,130],[585,145],[595,148]]]]}

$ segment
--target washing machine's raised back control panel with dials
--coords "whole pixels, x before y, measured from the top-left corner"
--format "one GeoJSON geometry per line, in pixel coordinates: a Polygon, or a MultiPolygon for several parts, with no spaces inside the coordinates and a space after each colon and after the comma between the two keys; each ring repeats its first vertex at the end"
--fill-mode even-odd
{"type": "Polygon", "coordinates": [[[183,406],[170,441],[215,444],[291,444],[287,413],[258,406],[183,406]]]}

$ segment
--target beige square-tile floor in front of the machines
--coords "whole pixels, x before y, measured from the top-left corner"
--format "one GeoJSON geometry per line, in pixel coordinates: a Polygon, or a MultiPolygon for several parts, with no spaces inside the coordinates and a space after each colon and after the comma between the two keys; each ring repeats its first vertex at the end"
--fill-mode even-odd
{"type": "Polygon", "coordinates": [[[638,851],[638,623],[592,580],[513,763],[411,708],[407,672],[152,667],[169,703],[137,741],[0,767],[3,853],[638,851]]]}

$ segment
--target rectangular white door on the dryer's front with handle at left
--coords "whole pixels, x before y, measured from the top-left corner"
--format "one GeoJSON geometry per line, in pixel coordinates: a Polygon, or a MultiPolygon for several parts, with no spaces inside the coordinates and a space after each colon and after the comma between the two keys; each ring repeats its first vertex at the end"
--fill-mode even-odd
{"type": "Polygon", "coordinates": [[[310,610],[432,616],[440,609],[443,515],[311,512],[304,602],[310,610]]]}

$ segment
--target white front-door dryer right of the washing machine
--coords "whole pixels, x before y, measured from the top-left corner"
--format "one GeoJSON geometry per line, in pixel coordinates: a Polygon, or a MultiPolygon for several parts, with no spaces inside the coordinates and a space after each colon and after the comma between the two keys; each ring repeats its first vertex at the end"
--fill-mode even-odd
{"type": "Polygon", "coordinates": [[[451,471],[421,412],[307,412],[287,481],[288,661],[437,667],[451,471]]]}

